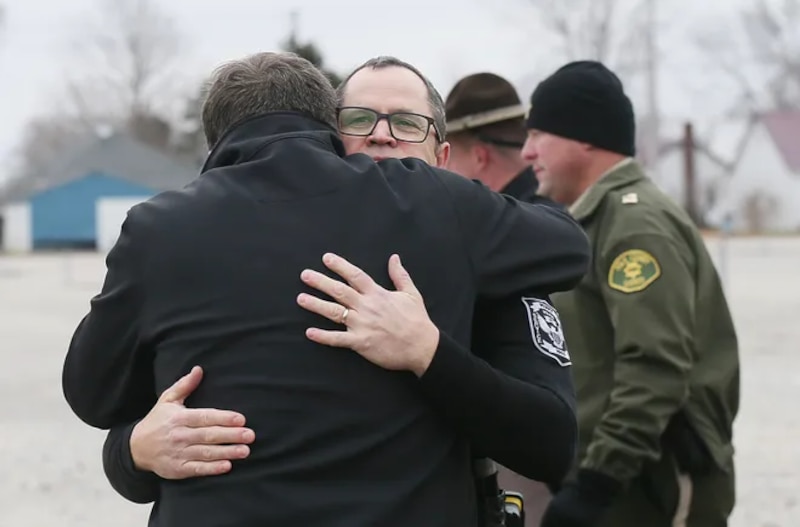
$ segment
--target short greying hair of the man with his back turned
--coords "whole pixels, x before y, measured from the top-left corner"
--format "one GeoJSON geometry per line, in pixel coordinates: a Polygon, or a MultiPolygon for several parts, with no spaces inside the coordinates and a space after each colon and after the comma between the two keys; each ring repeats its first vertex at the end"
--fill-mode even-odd
{"type": "Polygon", "coordinates": [[[336,92],[311,62],[263,52],[214,70],[202,120],[209,148],[238,123],[268,112],[300,112],[336,129],[336,92]]]}

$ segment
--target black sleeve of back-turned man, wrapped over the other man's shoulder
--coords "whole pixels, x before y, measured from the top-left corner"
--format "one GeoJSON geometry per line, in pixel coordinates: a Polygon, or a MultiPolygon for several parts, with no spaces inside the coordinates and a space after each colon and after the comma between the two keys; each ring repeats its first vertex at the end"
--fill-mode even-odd
{"type": "Polygon", "coordinates": [[[589,240],[567,211],[539,200],[518,201],[477,181],[441,176],[482,296],[566,291],[588,271],[589,240]]]}

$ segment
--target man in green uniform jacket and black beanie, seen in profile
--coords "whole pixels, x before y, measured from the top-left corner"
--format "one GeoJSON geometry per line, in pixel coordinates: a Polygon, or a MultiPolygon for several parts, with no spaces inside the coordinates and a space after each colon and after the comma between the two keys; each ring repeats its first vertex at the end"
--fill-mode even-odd
{"type": "Polygon", "coordinates": [[[634,122],[598,62],[567,64],[531,96],[523,157],[594,259],[553,297],[580,446],[542,527],[724,527],[735,501],[736,332],[697,228],[632,159],[634,122]]]}

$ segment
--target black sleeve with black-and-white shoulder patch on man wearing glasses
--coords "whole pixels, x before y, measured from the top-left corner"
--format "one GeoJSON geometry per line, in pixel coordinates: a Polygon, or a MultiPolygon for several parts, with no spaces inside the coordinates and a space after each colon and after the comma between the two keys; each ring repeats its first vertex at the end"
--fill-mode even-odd
{"type": "Polygon", "coordinates": [[[431,404],[468,438],[476,457],[530,479],[562,481],[578,429],[571,363],[555,309],[537,298],[479,302],[473,350],[441,335],[420,379],[431,404]]]}

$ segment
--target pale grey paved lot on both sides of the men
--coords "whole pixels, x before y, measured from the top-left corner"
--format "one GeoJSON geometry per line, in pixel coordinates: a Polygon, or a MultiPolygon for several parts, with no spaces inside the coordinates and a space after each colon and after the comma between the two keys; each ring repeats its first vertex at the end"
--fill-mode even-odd
{"type": "MultiPolygon", "coordinates": [[[[709,245],[740,332],[739,498],[731,527],[800,525],[800,238],[709,245]]],[[[0,527],[134,527],[108,486],[104,434],[69,411],[64,352],[104,274],[96,255],[0,256],[0,527]]]]}

